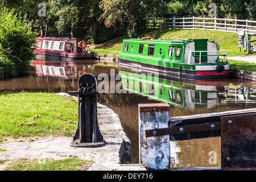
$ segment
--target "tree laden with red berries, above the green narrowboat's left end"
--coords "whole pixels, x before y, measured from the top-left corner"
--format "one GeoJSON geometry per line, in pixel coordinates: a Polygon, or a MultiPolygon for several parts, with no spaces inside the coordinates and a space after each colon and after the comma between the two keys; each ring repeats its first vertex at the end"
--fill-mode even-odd
{"type": "MultiPolygon", "coordinates": [[[[136,33],[138,25],[149,18],[158,18],[166,11],[162,0],[103,0],[100,7],[106,27],[127,28],[128,33],[136,33]]],[[[130,34],[132,36],[133,34],[130,34]]]]}

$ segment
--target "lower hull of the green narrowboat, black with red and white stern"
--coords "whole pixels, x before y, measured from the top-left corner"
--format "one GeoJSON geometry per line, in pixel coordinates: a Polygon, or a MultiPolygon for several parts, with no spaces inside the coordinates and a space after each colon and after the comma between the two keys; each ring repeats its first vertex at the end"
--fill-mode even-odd
{"type": "Polygon", "coordinates": [[[136,71],[138,73],[155,73],[166,77],[181,77],[187,79],[218,79],[229,77],[229,65],[224,64],[224,71],[218,72],[216,70],[217,65],[210,64],[198,64],[191,65],[188,69],[187,64],[172,63],[175,67],[164,67],[162,65],[153,65],[148,63],[142,63],[138,61],[131,61],[126,59],[118,59],[118,68],[120,71],[136,71]]]}

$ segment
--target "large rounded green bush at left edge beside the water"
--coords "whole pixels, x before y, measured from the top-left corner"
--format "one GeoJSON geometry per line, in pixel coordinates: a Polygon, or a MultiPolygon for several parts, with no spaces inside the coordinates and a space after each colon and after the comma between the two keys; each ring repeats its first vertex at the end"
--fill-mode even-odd
{"type": "Polygon", "coordinates": [[[21,18],[8,10],[0,12],[0,78],[28,72],[30,61],[35,57],[35,38],[26,16],[21,18]]]}

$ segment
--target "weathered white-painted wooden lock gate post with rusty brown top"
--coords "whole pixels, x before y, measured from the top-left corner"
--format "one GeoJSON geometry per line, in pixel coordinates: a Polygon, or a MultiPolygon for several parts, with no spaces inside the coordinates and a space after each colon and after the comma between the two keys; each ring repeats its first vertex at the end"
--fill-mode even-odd
{"type": "Polygon", "coordinates": [[[145,130],[168,126],[170,106],[168,104],[139,104],[139,158],[148,169],[168,170],[170,167],[170,137],[147,137],[145,130]]]}

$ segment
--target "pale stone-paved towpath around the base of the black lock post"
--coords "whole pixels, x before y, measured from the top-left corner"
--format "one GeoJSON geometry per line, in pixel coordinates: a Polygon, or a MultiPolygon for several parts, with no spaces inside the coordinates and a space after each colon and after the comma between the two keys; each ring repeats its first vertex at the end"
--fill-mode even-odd
{"type": "MultiPolygon", "coordinates": [[[[72,97],[65,93],[63,96],[72,97]]],[[[74,97],[76,99],[76,97],[74,97]]],[[[98,104],[98,122],[100,130],[104,133],[105,146],[94,148],[71,147],[72,137],[43,137],[22,142],[4,141],[0,143],[0,160],[16,160],[20,158],[38,159],[43,163],[46,158],[66,159],[73,158],[93,160],[92,166],[84,168],[86,171],[145,171],[139,165],[120,164],[122,155],[129,155],[130,140],[123,131],[117,114],[108,107],[98,104]],[[126,152],[126,154],[125,154],[126,152]]],[[[5,165],[0,164],[0,170],[5,165]]]]}

